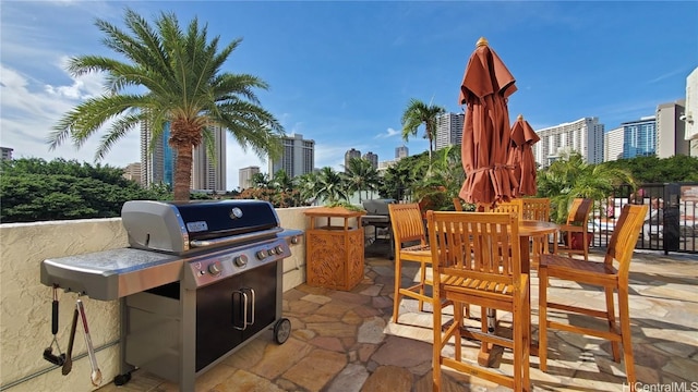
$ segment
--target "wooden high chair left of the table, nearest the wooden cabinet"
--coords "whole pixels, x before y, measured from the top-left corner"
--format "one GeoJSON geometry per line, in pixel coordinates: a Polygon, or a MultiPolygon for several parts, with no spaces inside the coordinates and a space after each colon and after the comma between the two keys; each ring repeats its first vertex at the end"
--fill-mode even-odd
{"type": "Polygon", "coordinates": [[[419,310],[424,310],[424,302],[432,303],[432,296],[426,293],[426,286],[432,281],[426,279],[426,269],[432,264],[432,254],[426,243],[424,220],[417,203],[388,205],[390,224],[393,225],[393,241],[395,246],[395,295],[393,304],[393,322],[398,322],[400,299],[409,296],[419,301],[419,310]],[[420,264],[420,278],[417,284],[409,287],[401,286],[402,264],[414,261],[420,264]]]}

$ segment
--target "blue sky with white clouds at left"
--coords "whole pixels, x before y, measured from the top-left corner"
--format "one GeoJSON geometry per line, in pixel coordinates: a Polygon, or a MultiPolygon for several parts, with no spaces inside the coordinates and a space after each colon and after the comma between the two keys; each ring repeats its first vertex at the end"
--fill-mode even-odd
{"type": "MultiPolygon", "coordinates": [[[[535,130],[598,117],[606,131],[685,97],[698,65],[696,1],[8,1],[0,3],[0,145],[14,157],[93,162],[99,135],[80,149],[49,151],[46,136],[82,99],[101,93],[99,75],[73,78],[71,56],[116,57],[95,19],[122,26],[130,7],[148,20],[197,16],[209,35],[242,37],[224,71],[270,85],[262,105],[287,134],[315,140],[315,166],[341,170],[344,152],[393,159],[410,98],[459,112],[458,93],[479,37],[517,79],[509,115],[535,130]]],[[[428,149],[423,130],[406,145],[428,149]]],[[[140,160],[139,132],[101,161],[140,160]]],[[[238,170],[266,161],[229,139],[228,188],[238,170]]]]}

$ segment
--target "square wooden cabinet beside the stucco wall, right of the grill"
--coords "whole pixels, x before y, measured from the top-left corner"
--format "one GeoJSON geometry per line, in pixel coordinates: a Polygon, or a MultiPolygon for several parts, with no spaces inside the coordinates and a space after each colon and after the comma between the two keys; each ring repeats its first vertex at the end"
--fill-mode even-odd
{"type": "Polygon", "coordinates": [[[363,280],[364,211],[342,207],[308,210],[305,262],[308,285],[349,291],[363,280]]]}

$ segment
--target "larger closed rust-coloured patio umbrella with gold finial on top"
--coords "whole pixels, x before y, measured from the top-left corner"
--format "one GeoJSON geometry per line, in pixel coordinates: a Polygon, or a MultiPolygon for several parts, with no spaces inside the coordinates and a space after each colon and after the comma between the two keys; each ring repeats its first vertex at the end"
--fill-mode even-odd
{"type": "Polygon", "coordinates": [[[461,142],[466,182],[460,197],[494,205],[516,196],[518,182],[507,164],[512,131],[507,98],[516,79],[484,38],[478,40],[460,86],[459,103],[467,105],[461,142]]]}

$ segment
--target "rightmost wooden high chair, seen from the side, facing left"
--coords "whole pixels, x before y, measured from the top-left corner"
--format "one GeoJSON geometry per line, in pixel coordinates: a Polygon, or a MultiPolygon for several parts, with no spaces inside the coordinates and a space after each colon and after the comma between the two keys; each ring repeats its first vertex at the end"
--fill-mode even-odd
{"type": "MultiPolygon", "coordinates": [[[[633,345],[630,343],[630,314],[628,305],[628,271],[633,250],[642,228],[647,206],[625,205],[616,222],[609,242],[603,262],[585,261],[561,255],[543,255],[538,269],[539,293],[539,357],[540,368],[547,370],[547,329],[558,329],[568,332],[587,334],[610,340],[612,342],[613,359],[621,362],[618,343],[623,344],[625,372],[630,389],[635,388],[635,366],[633,362],[633,345]],[[603,287],[605,292],[606,310],[565,305],[547,299],[549,280],[551,278],[573,281],[587,287],[588,285],[603,287]],[[618,295],[619,328],[615,319],[614,292],[618,295]],[[609,329],[598,330],[577,327],[571,323],[561,323],[547,319],[547,309],[557,309],[574,315],[605,319],[609,329]]],[[[583,295],[583,294],[576,294],[583,295]]]]}

